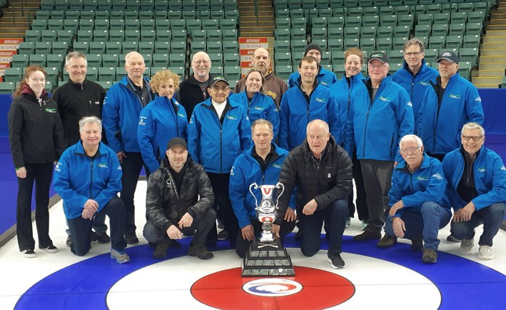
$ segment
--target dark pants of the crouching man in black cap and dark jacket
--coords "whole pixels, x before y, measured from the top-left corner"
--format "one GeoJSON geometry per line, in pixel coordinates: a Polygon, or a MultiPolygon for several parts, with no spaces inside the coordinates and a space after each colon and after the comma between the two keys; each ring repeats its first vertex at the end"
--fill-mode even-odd
{"type": "MultiPolygon", "coordinates": [[[[177,226],[177,223],[173,224],[177,226]]],[[[195,233],[192,243],[203,246],[206,244],[209,231],[211,231],[213,227],[216,229],[216,211],[214,211],[214,209],[207,209],[202,216],[193,219],[193,223],[190,227],[183,227],[179,230],[181,230],[183,234],[195,233]]],[[[148,221],[146,225],[144,225],[143,235],[144,238],[151,243],[158,243],[168,238],[167,231],[159,229],[152,221],[148,221]]]]}

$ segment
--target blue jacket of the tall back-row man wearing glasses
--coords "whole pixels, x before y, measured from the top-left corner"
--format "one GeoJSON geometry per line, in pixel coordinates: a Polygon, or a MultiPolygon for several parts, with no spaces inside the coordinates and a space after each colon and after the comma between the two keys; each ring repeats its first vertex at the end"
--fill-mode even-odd
{"type": "Polygon", "coordinates": [[[425,59],[422,59],[422,68],[418,74],[413,76],[409,71],[409,66],[404,61],[403,68],[399,69],[392,75],[392,81],[403,86],[408,91],[413,104],[413,115],[415,116],[415,131],[418,131],[418,124],[420,123],[420,106],[422,106],[423,94],[430,86],[429,81],[435,79],[439,72],[425,64],[425,59]]]}

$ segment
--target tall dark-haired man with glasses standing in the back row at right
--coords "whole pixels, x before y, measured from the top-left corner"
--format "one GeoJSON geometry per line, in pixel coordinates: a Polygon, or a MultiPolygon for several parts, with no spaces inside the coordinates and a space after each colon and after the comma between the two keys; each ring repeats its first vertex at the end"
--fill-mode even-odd
{"type": "Polygon", "coordinates": [[[413,38],[405,41],[403,52],[404,65],[392,75],[392,81],[403,86],[411,97],[416,131],[420,122],[418,110],[422,104],[423,94],[427,86],[430,86],[429,81],[435,79],[439,73],[431,66],[427,66],[425,44],[420,39],[413,38]]]}

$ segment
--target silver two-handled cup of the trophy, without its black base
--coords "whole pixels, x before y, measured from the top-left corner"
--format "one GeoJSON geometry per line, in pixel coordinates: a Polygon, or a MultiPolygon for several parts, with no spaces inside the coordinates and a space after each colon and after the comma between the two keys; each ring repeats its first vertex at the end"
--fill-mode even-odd
{"type": "Polygon", "coordinates": [[[276,200],[276,204],[273,201],[273,194],[275,189],[281,189],[281,196],[283,191],[285,191],[285,186],[278,182],[275,185],[258,185],[253,183],[250,185],[250,193],[253,195],[255,199],[255,210],[257,214],[257,219],[262,223],[262,232],[260,233],[260,242],[266,241],[274,241],[274,235],[272,232],[273,222],[276,219],[277,210],[278,210],[278,201],[276,200]],[[258,205],[258,199],[256,199],[255,194],[251,189],[260,189],[260,193],[262,194],[262,201],[260,201],[260,205],[258,205]]]}

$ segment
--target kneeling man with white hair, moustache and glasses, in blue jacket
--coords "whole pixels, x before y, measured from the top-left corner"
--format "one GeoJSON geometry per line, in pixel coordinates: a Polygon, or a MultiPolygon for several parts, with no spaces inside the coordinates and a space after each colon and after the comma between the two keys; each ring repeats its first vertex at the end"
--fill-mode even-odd
{"type": "Polygon", "coordinates": [[[422,140],[414,134],[403,136],[399,148],[404,160],[392,174],[390,210],[378,248],[390,248],[398,238],[410,239],[412,251],[423,249],[424,263],[435,263],[440,244],[437,233],[452,218],[450,207],[442,204],[446,186],[442,164],[424,154],[422,140]]]}

